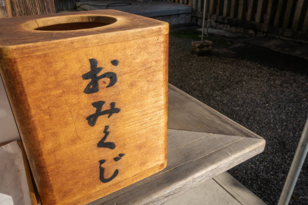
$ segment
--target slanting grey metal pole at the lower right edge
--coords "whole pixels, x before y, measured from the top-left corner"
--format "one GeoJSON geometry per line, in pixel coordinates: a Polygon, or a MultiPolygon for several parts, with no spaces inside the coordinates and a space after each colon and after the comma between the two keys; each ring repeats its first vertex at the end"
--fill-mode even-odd
{"type": "Polygon", "coordinates": [[[308,151],[308,118],[302,131],[288,176],[285,180],[278,205],[287,205],[290,201],[302,164],[308,151]]]}

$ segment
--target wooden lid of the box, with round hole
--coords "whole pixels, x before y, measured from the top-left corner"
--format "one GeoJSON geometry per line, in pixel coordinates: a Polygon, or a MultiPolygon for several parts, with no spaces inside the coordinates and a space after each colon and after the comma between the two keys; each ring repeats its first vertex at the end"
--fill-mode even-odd
{"type": "Polygon", "coordinates": [[[169,33],[169,24],[116,10],[0,19],[0,59],[40,55],[169,33]],[[89,23],[90,22],[90,23],[89,23]]]}

